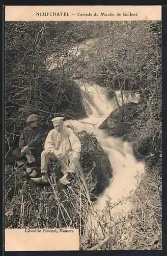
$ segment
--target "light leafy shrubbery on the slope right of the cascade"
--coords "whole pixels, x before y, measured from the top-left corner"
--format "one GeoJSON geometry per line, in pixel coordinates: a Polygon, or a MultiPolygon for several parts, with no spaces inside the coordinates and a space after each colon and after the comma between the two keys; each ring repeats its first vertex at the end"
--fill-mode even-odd
{"type": "MultiPolygon", "coordinates": [[[[106,22],[102,23],[94,45],[80,57],[84,69],[76,77],[97,81],[108,89],[140,92],[141,101],[131,115],[131,105],[117,109],[123,112],[120,124],[128,127],[124,136],[133,144],[137,157],[161,154],[161,23],[160,22],[106,22]],[[125,111],[126,110],[126,111],[125,111]]],[[[125,102],[124,102],[125,103],[125,102]]],[[[119,105],[119,103],[118,103],[119,105]]],[[[120,122],[120,114],[115,121],[120,122]]],[[[117,136],[124,135],[119,129],[117,136]]],[[[122,127],[120,127],[122,128],[122,127]]],[[[112,132],[110,130],[110,132],[112,132]]]]}

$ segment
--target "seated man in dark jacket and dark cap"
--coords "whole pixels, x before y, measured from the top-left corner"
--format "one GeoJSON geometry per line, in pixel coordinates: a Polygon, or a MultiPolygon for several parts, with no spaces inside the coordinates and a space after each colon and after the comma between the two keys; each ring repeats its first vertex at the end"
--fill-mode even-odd
{"type": "Polygon", "coordinates": [[[42,152],[42,129],[38,125],[39,117],[30,115],[26,126],[19,139],[19,147],[12,152],[12,157],[16,160],[18,167],[23,166],[30,177],[37,177],[38,167],[40,167],[42,152]]]}

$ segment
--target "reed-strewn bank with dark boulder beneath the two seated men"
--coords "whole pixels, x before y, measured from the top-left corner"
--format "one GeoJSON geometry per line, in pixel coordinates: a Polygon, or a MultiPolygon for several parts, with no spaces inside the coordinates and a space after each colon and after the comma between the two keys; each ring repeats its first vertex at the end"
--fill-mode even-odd
{"type": "Polygon", "coordinates": [[[51,187],[37,186],[22,169],[7,166],[6,228],[54,228],[70,225],[79,230],[83,229],[92,206],[91,200],[94,201],[108,185],[112,168],[108,156],[102,151],[95,137],[85,132],[78,133],[78,137],[82,145],[80,163],[87,186],[82,180],[74,180],[69,186],[60,184],[58,181],[62,173],[57,163],[50,164],[51,174],[55,178],[51,187]]]}

